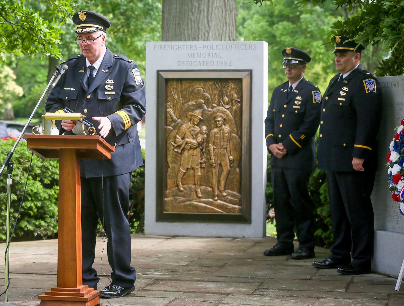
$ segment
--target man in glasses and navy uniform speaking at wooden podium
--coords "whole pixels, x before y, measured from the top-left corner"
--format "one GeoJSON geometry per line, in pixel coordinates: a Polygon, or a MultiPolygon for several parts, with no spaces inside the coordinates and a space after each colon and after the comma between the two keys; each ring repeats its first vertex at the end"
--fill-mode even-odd
{"type": "MultiPolygon", "coordinates": [[[[73,15],[76,42],[82,54],[68,59],[69,66],[49,95],[46,110],[65,107],[83,113],[97,133],[115,146],[111,159],[82,159],[81,216],[83,284],[97,288],[93,268],[98,219],[107,235],[112,284],[101,297],[118,298],[135,289],[135,268],[130,266],[130,172],[143,165],[136,124],[145,115],[144,84],[136,63],[105,46],[111,23],[90,11],[73,15]]],[[[74,122],[56,122],[60,134],[73,134],[74,122]]]]}

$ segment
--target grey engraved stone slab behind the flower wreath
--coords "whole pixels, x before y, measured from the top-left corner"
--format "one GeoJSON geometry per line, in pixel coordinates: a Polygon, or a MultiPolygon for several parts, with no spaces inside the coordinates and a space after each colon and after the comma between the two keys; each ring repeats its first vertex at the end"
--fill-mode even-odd
{"type": "Polygon", "coordinates": [[[378,78],[383,90],[383,113],[378,144],[378,171],[372,192],[375,212],[375,251],[372,270],[397,276],[404,259],[404,216],[389,191],[386,155],[404,118],[404,76],[378,78]]]}

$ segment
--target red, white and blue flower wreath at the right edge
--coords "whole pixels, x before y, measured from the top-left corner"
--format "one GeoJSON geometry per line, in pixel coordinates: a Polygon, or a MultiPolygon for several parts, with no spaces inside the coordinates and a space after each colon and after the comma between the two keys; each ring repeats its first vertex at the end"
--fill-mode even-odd
{"type": "Polygon", "coordinates": [[[400,214],[404,215],[404,119],[397,129],[390,143],[390,153],[387,154],[387,166],[389,168],[389,189],[391,197],[400,204],[400,214]]]}

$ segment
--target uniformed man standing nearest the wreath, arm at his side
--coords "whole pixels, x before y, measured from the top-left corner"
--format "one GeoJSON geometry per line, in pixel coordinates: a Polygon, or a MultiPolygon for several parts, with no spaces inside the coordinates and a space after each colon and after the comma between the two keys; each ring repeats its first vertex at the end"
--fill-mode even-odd
{"type": "Polygon", "coordinates": [[[334,242],[331,255],[313,265],[358,275],[371,268],[374,219],[370,194],[377,170],[382,92],[376,78],[360,65],[365,46],[347,42],[350,38],[343,35],[334,39],[332,53],[339,73],[322,99],[318,141],[318,168],[327,172],[334,242]]]}

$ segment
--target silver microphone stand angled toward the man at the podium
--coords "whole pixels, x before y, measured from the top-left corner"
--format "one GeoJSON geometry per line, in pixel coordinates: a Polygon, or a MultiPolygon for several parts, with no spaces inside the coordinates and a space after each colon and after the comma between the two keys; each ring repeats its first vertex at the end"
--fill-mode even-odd
{"type": "MultiPolygon", "coordinates": [[[[18,136],[17,140],[15,141],[13,149],[11,149],[10,152],[7,153],[7,157],[4,160],[3,166],[0,170],[0,176],[3,173],[4,168],[7,167],[8,171],[8,177],[7,177],[7,216],[6,216],[6,260],[5,260],[5,265],[6,265],[6,275],[5,275],[5,283],[4,283],[4,289],[6,292],[4,293],[4,301],[8,303],[8,267],[9,267],[9,256],[10,256],[10,210],[11,210],[11,174],[13,172],[13,163],[11,162],[11,157],[14,154],[15,148],[17,147],[18,143],[20,142],[25,130],[27,129],[27,126],[29,122],[31,121],[32,117],[34,117],[34,114],[36,110],[38,109],[39,105],[42,102],[42,99],[44,98],[46,92],[48,91],[50,85],[53,83],[53,80],[55,80],[55,77],[58,73],[61,73],[58,68],[56,68],[56,71],[53,73],[52,78],[50,78],[50,81],[48,85],[46,86],[44,92],[42,93],[42,96],[40,97],[38,103],[36,104],[34,111],[32,111],[31,115],[29,116],[29,119],[27,123],[25,124],[23,130],[20,133],[20,136],[18,136]]],[[[18,305],[18,304],[14,304],[18,305]]]]}

